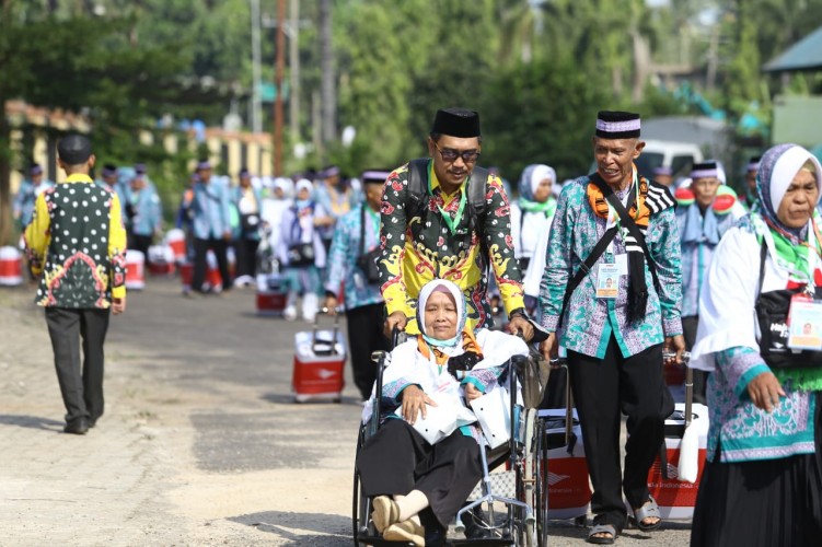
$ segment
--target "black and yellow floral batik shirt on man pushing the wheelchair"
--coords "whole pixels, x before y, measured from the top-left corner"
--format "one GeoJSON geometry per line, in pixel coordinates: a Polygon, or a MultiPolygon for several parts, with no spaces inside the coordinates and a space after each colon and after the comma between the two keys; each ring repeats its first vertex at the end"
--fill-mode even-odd
{"type": "MultiPolygon", "coordinates": [[[[488,264],[499,287],[506,310],[524,306],[522,276],[513,255],[508,197],[502,183],[489,175],[486,186],[484,219],[470,219],[467,208],[460,216],[461,191],[447,196],[433,170],[428,170],[428,193],[418,211],[406,210],[412,203],[408,190],[408,165],[395,170],[385,181],[382,201],[380,279],[389,315],[402,311],[408,317],[408,334],[417,334],[416,307],[419,291],[428,281],[440,278],[456,283],[465,294],[468,325],[476,329],[491,327],[488,302],[488,264]],[[440,209],[442,209],[441,212],[440,209]],[[455,222],[452,233],[443,214],[455,222]],[[479,225],[482,223],[482,225],[479,225]],[[477,226],[472,230],[472,226],[477,226]],[[485,245],[481,245],[481,234],[485,245]]],[[[426,185],[424,185],[426,186],[426,185]]]]}

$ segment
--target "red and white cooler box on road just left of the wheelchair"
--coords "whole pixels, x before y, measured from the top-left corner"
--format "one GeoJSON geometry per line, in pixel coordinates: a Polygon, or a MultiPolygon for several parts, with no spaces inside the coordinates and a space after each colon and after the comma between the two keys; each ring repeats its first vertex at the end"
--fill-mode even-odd
{"type": "MultiPolygon", "coordinates": [[[[317,314],[317,318],[320,315],[317,314]]],[[[339,403],[345,381],[346,347],[338,328],[339,315],[331,330],[302,330],[294,335],[294,370],[291,386],[294,399],[304,403],[325,399],[339,403]]],[[[315,319],[316,321],[316,319],[315,319]]]]}

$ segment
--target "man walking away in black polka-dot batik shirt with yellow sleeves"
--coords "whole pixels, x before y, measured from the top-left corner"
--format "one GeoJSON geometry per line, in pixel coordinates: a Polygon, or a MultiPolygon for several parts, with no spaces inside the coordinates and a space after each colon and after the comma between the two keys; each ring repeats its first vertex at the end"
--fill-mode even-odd
{"type": "Polygon", "coordinates": [[[63,431],[84,434],[103,415],[109,315],[126,311],[126,230],[117,195],[89,176],[95,162],[89,139],[63,137],[57,153],[68,178],[37,197],[24,236],[32,274],[42,276],[35,302],[46,311],[63,431]]]}

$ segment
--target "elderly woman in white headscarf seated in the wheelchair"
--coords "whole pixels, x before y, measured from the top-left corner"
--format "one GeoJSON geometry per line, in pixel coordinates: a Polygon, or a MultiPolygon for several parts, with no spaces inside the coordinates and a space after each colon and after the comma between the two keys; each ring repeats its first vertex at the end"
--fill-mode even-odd
{"type": "Polygon", "coordinates": [[[454,283],[426,284],[417,305],[422,334],[394,348],[384,371],[381,407],[398,408],[385,412],[357,456],[383,539],[425,545],[426,536],[444,537],[483,477],[485,443],[470,403],[501,389],[507,362],[528,354],[516,336],[484,329],[475,337],[465,307],[454,283]]]}

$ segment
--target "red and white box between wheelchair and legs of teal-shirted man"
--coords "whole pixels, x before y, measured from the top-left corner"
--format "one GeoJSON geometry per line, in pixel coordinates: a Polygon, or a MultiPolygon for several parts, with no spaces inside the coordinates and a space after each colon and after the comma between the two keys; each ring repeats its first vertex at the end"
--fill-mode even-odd
{"type": "Polygon", "coordinates": [[[540,410],[547,434],[547,446],[539,456],[548,468],[548,519],[576,519],[588,514],[591,487],[582,445],[582,429],[577,410],[571,414],[570,442],[566,443],[565,408],[540,410]]]}

